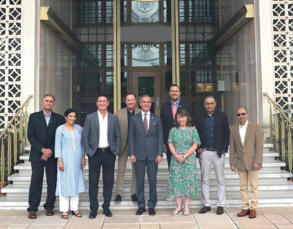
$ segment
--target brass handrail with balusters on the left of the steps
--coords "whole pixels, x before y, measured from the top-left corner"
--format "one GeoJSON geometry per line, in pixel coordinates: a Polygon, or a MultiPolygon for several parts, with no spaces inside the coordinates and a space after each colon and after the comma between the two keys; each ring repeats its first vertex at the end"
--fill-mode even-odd
{"type": "MultiPolygon", "coordinates": [[[[8,175],[11,173],[11,133],[13,133],[13,155],[14,155],[14,165],[16,165],[17,162],[17,128],[16,125],[19,124],[19,149],[20,153],[22,152],[23,149],[23,128],[22,128],[22,114],[23,114],[23,108],[25,107],[25,118],[24,118],[24,125],[25,125],[25,141],[24,145],[26,146],[28,142],[28,137],[27,137],[27,126],[28,126],[28,112],[26,107],[28,106],[28,101],[30,98],[32,98],[33,95],[29,95],[28,98],[25,100],[23,105],[18,109],[16,114],[12,117],[10,122],[7,124],[7,126],[3,129],[2,133],[0,134],[0,139],[1,139],[1,186],[3,187],[4,184],[4,177],[5,177],[5,147],[4,147],[4,139],[6,137],[8,138],[8,145],[7,145],[7,167],[8,167],[8,175]],[[18,121],[18,116],[19,116],[19,121],[18,121]],[[12,124],[14,125],[12,126],[12,124]],[[6,135],[6,132],[8,131],[8,135],[6,135]]],[[[1,194],[2,195],[2,194],[1,194]]]]}

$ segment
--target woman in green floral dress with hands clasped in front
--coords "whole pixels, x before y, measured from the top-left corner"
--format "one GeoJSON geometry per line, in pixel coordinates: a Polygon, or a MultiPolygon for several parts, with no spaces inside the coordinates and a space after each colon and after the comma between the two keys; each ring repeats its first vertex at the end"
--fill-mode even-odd
{"type": "Polygon", "coordinates": [[[175,114],[175,127],[169,133],[168,144],[173,155],[171,157],[168,194],[175,196],[177,203],[177,208],[172,212],[173,216],[182,213],[182,197],[185,197],[183,215],[189,216],[191,197],[198,195],[195,150],[200,144],[200,138],[190,121],[188,112],[180,109],[175,114]]]}

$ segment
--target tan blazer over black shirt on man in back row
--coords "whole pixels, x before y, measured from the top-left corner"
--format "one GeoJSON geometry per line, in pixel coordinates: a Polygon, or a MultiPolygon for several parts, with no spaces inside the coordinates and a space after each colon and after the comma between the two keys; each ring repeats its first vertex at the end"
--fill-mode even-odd
{"type": "MultiPolygon", "coordinates": [[[[142,110],[135,107],[134,114],[141,112],[142,110]]],[[[127,117],[127,107],[122,108],[115,112],[115,115],[118,118],[120,132],[121,132],[121,146],[120,146],[120,153],[123,152],[128,137],[128,117],[127,117]]]]}

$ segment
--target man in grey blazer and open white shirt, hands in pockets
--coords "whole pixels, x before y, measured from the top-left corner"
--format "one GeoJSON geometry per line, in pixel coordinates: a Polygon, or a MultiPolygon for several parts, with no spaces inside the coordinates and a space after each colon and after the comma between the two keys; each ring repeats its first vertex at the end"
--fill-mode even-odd
{"type": "Polygon", "coordinates": [[[99,208],[98,191],[100,169],[103,169],[103,214],[112,216],[110,201],[114,186],[116,156],[120,152],[120,128],[117,116],[107,111],[109,101],[105,94],[97,97],[98,111],[86,116],[84,121],[84,151],[88,156],[88,182],[91,213],[96,218],[99,208]]]}

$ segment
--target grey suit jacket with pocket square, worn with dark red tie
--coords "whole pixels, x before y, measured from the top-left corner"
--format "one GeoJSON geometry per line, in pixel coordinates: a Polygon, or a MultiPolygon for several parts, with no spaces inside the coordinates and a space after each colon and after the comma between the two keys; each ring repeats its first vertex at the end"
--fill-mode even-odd
{"type": "Polygon", "coordinates": [[[128,130],[129,156],[136,160],[156,160],[157,156],[163,157],[163,127],[161,118],[150,113],[149,130],[146,133],[142,121],[142,113],[131,117],[128,130]]]}

